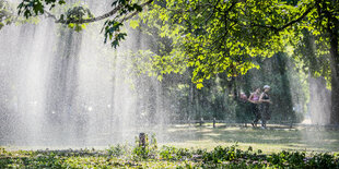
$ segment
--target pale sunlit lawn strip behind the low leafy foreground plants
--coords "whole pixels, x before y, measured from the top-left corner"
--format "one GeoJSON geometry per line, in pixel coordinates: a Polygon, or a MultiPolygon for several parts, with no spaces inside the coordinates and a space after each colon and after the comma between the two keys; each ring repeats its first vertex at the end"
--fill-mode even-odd
{"type": "MultiPolygon", "coordinates": [[[[161,145],[172,145],[182,148],[202,148],[213,149],[215,146],[230,146],[237,144],[241,149],[252,146],[255,150],[261,149],[264,153],[277,153],[281,150],[290,152],[316,152],[316,153],[337,153],[339,152],[339,131],[338,129],[326,129],[323,126],[293,126],[269,124],[267,130],[260,128],[245,128],[243,124],[219,123],[212,128],[211,123],[199,124],[176,124],[167,128],[145,128],[141,130],[145,133],[155,133],[161,145]]],[[[120,133],[120,135],[130,135],[120,144],[133,144],[138,132],[120,133]]],[[[105,149],[108,145],[107,134],[96,136],[95,142],[103,143],[98,145],[87,144],[85,146],[4,146],[7,149],[80,149],[92,148],[105,149]],[[101,142],[102,140],[102,142],[101,142]]],[[[1,145],[0,145],[1,146],[1,145]]]]}

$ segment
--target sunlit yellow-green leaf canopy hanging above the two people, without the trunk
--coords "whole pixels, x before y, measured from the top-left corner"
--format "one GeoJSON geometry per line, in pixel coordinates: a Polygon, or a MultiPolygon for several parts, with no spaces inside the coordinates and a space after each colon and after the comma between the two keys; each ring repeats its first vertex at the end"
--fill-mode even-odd
{"type": "Polygon", "coordinates": [[[282,37],[289,32],[277,35],[256,26],[258,23],[265,23],[262,20],[268,20],[268,16],[277,20],[276,23],[284,23],[280,20],[285,14],[280,11],[289,9],[289,5],[282,4],[279,10],[268,14],[267,11],[274,10],[270,9],[274,3],[161,1],[148,10],[147,14],[140,14],[140,21],[159,28],[160,36],[173,40],[173,50],[183,55],[172,55],[172,58],[179,57],[188,61],[187,65],[194,68],[192,81],[201,88],[202,81],[215,74],[226,72],[229,76],[238,76],[252,68],[258,68],[250,61],[250,57],[270,57],[274,51],[283,50],[285,39],[282,37]]]}

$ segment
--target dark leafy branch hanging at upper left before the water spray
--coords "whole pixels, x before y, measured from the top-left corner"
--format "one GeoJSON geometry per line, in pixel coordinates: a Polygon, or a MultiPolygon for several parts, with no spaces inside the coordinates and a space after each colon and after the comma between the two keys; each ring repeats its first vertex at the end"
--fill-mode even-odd
{"type": "Polygon", "coordinates": [[[65,0],[23,0],[17,9],[19,15],[22,14],[26,19],[37,15],[46,14],[48,17],[55,20],[56,23],[68,25],[70,28],[80,32],[85,27],[85,24],[106,20],[102,32],[104,32],[105,40],[110,40],[112,47],[119,46],[119,41],[125,39],[126,33],[120,33],[120,26],[127,20],[133,17],[137,13],[142,11],[142,8],[152,3],[153,0],[148,1],[132,1],[132,0],[115,0],[112,3],[112,10],[98,16],[94,16],[90,9],[84,7],[73,7],[65,14],[52,14],[50,11],[57,5],[65,5],[65,0]],[[48,10],[46,10],[48,9],[48,10]]]}

